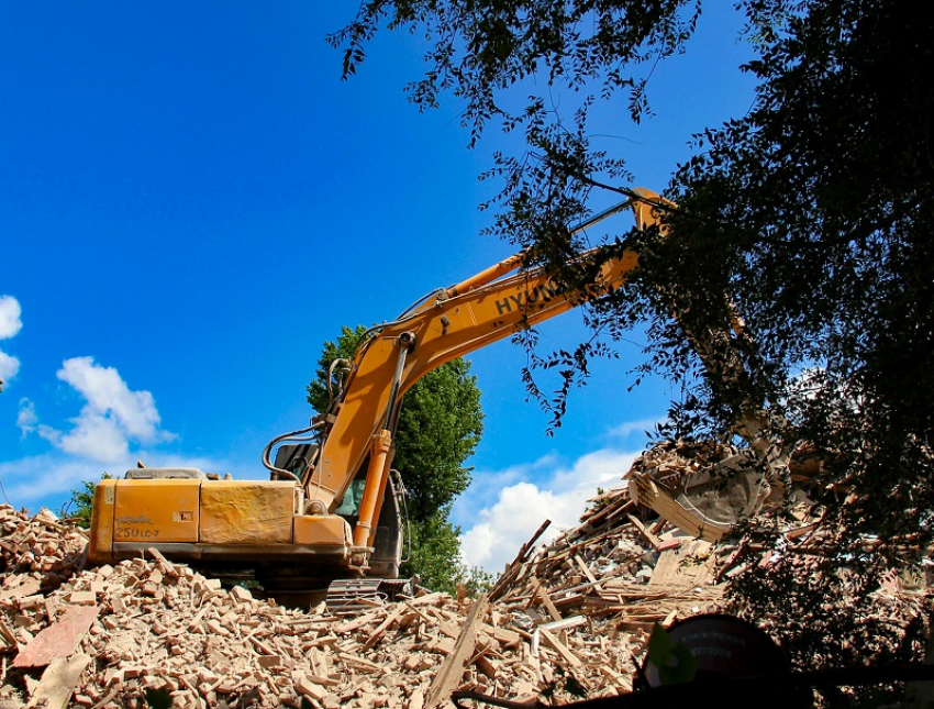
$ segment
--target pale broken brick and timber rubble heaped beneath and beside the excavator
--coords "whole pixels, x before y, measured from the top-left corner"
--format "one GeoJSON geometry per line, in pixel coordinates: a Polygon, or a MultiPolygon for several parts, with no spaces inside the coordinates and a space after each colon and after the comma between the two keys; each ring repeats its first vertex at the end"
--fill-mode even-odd
{"type": "Polygon", "coordinates": [[[716,610],[734,573],[735,546],[644,511],[625,486],[609,490],[535,547],[543,524],[479,599],[421,591],[342,614],[224,588],[155,550],[91,568],[82,530],[2,506],[0,709],[155,695],[181,708],[431,709],[456,689],[558,704],[580,698],[571,688],[627,693],[653,624],[716,610]]]}

